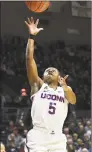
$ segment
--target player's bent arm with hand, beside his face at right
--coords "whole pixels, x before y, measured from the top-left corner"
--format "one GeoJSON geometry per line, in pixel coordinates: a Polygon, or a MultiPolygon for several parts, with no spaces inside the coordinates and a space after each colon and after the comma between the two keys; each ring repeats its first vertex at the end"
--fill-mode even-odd
{"type": "Polygon", "coordinates": [[[68,75],[66,75],[64,78],[60,78],[59,83],[62,86],[62,88],[64,89],[65,92],[65,98],[68,100],[69,103],[71,104],[76,104],[76,95],[73,92],[72,88],[70,86],[67,86],[66,84],[66,79],[67,79],[68,75]]]}

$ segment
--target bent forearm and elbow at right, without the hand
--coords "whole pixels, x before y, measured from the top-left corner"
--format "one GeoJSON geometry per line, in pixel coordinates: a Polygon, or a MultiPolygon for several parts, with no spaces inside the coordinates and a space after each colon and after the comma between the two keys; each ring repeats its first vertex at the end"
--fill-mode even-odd
{"type": "Polygon", "coordinates": [[[63,89],[65,92],[65,97],[69,101],[69,103],[75,104],[76,103],[76,95],[72,91],[72,89],[69,86],[64,86],[63,89]]]}

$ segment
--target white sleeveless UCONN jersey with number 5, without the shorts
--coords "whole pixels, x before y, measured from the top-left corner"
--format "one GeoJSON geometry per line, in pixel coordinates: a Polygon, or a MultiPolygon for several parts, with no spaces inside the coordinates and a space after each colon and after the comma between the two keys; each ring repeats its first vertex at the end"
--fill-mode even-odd
{"type": "Polygon", "coordinates": [[[44,83],[32,99],[33,127],[62,132],[68,113],[68,101],[65,99],[63,88],[57,87],[54,90],[44,83]]]}

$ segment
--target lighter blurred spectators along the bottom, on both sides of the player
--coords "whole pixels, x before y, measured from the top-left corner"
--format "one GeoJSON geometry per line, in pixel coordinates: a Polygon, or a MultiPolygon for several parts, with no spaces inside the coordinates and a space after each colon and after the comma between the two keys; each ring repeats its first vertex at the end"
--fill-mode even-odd
{"type": "MultiPolygon", "coordinates": [[[[92,151],[92,124],[88,118],[82,118],[68,122],[63,128],[67,137],[68,152],[91,152],[92,151]]],[[[2,143],[6,152],[24,152],[28,128],[23,121],[16,125],[9,121],[8,126],[2,131],[2,143]]],[[[5,151],[2,151],[5,152],[5,151]]]]}

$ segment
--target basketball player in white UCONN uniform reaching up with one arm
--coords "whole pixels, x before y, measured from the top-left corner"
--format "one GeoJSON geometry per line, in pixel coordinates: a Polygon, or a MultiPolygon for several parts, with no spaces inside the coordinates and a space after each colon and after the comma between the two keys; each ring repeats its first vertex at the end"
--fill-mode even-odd
{"type": "Polygon", "coordinates": [[[26,49],[27,76],[31,85],[33,129],[27,134],[25,152],[66,152],[66,137],[62,133],[67,117],[68,103],[75,104],[76,96],[60,77],[56,68],[49,67],[39,78],[34,60],[34,39],[43,28],[37,28],[39,20],[25,21],[29,38],[26,49]],[[58,83],[60,86],[58,86],[58,83]]]}

